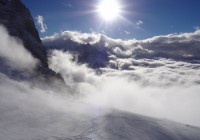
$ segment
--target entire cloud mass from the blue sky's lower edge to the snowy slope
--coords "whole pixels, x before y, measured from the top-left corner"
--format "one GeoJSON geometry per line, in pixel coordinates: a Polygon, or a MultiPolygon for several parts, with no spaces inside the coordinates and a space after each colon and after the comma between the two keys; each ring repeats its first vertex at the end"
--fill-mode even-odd
{"type": "MultiPolygon", "coordinates": [[[[90,101],[139,114],[200,125],[200,111],[196,108],[199,104],[200,84],[198,38],[199,30],[126,41],[100,34],[65,31],[42,40],[50,50],[64,50],[53,51],[50,67],[60,72],[64,78],[70,75],[71,79],[78,79],[79,82],[72,80],[70,83],[75,83],[76,89],[90,101]],[[68,56],[74,51],[82,54],[79,48],[85,46],[106,52],[108,59],[101,59],[106,61],[106,65],[92,71],[85,64],[76,64],[74,53],[68,56]],[[56,62],[55,58],[59,61],[56,62]],[[75,64],[74,68],[78,71],[73,70],[69,62],[75,64]],[[83,66],[89,70],[81,68],[83,66]]],[[[92,57],[93,53],[91,51],[87,55],[92,57]]],[[[95,59],[93,56],[91,62],[85,62],[90,66],[95,59]]]]}

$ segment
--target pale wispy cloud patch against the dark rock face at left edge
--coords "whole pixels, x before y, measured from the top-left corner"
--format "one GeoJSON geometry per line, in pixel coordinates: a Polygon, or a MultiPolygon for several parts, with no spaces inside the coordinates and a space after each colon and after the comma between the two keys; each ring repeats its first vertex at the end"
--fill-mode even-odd
{"type": "Polygon", "coordinates": [[[0,26],[0,57],[7,64],[18,70],[33,70],[38,63],[30,52],[28,52],[19,38],[10,36],[7,30],[0,26]]]}

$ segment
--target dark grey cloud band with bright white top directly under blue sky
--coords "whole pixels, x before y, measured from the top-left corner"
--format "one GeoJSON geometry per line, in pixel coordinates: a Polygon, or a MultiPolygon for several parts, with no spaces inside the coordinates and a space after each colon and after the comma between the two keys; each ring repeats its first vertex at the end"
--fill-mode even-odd
{"type": "MultiPolygon", "coordinates": [[[[61,49],[82,53],[80,46],[90,44],[96,50],[103,50],[108,54],[107,66],[115,69],[129,69],[119,67],[118,62],[123,60],[129,65],[134,59],[172,59],[190,63],[200,61],[200,30],[193,33],[169,34],[156,36],[146,40],[111,39],[101,34],[86,34],[65,31],[60,34],[42,39],[48,49],[61,49]]],[[[93,53],[93,52],[92,52],[93,53]]],[[[94,57],[95,59],[95,57],[94,57]]],[[[88,64],[92,62],[87,62],[88,64]]],[[[133,64],[132,64],[133,65],[133,64]]]]}

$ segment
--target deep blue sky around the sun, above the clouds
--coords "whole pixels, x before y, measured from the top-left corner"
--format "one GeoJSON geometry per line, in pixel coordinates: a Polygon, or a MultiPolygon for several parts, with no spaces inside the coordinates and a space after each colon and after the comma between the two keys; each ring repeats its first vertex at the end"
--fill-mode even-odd
{"type": "MultiPolygon", "coordinates": [[[[193,32],[200,26],[199,0],[117,0],[122,18],[104,21],[94,12],[101,0],[22,0],[34,19],[48,27],[41,37],[64,30],[97,32],[112,38],[146,39],[156,35],[193,32]],[[36,20],[36,19],[35,19],[36,20]]],[[[39,25],[37,25],[39,29],[39,25]]]]}

